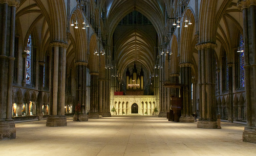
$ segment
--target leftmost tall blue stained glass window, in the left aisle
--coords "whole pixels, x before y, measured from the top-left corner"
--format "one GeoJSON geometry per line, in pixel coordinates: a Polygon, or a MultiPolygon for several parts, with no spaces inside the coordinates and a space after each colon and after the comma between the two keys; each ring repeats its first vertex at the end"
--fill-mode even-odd
{"type": "Polygon", "coordinates": [[[31,47],[32,47],[32,42],[31,42],[31,35],[29,35],[28,38],[28,43],[27,43],[27,73],[26,73],[26,84],[31,85],[31,47]]]}

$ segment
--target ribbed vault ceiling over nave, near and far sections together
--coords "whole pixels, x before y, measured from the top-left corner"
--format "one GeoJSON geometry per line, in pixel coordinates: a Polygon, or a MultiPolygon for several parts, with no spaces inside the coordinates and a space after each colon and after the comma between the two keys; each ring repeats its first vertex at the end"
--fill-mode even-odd
{"type": "MultiPolygon", "coordinates": [[[[162,36],[164,29],[164,0],[106,0],[106,14],[107,23],[106,29],[110,34],[109,41],[118,23],[127,14],[138,11],[149,19],[153,27],[155,28],[154,33],[157,36],[162,36]]],[[[143,25],[137,25],[143,27],[143,25]]],[[[157,37],[153,39],[148,36],[152,32],[141,29],[130,29],[120,34],[122,37],[118,39],[118,42],[113,43],[115,47],[114,59],[117,61],[117,68],[123,75],[127,69],[127,66],[133,67],[134,61],[139,67],[143,67],[144,75],[150,75],[153,70],[155,54],[154,47],[157,45],[157,37]]],[[[159,38],[161,40],[161,37],[159,38]]],[[[161,42],[161,41],[160,41],[161,42]]]]}

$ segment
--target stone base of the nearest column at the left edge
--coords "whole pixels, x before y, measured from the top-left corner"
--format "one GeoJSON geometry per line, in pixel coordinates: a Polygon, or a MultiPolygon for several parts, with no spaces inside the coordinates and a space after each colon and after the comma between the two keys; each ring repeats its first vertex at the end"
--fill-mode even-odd
{"type": "Polygon", "coordinates": [[[0,121],[0,140],[16,139],[14,121],[0,121]]]}

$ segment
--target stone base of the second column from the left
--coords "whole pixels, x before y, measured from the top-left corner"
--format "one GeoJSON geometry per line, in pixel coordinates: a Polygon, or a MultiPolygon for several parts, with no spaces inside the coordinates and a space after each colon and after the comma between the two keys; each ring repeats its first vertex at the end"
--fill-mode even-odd
{"type": "Polygon", "coordinates": [[[48,116],[46,121],[46,126],[49,127],[61,127],[67,126],[67,118],[66,116],[48,116]]]}

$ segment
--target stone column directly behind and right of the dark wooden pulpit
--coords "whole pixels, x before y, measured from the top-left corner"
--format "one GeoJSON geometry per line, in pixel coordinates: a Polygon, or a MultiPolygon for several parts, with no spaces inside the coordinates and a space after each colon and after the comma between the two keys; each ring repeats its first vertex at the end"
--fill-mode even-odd
{"type": "Polygon", "coordinates": [[[191,98],[191,63],[180,64],[180,77],[183,87],[183,109],[181,111],[180,122],[195,122],[192,116],[192,98],[191,98]]]}

